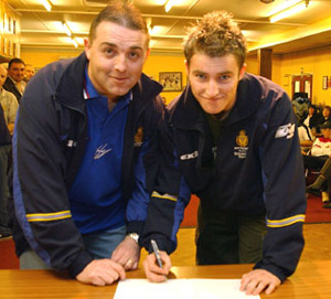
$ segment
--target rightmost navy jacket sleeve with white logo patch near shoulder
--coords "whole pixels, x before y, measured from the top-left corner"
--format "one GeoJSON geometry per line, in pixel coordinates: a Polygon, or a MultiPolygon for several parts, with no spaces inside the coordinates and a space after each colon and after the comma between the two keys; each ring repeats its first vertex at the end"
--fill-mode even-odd
{"type": "Polygon", "coordinates": [[[306,213],[303,162],[290,100],[277,100],[259,148],[264,177],[267,234],[263,259],[255,268],[266,269],[280,280],[299,261],[306,213]]]}

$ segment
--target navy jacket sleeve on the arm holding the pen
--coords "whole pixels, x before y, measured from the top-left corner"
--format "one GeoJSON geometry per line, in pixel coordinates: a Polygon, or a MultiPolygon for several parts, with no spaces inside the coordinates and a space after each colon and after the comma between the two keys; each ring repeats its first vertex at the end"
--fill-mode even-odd
{"type": "Polygon", "coordinates": [[[167,114],[160,126],[160,171],[148,206],[141,245],[151,253],[150,241],[154,239],[160,250],[171,254],[177,248],[177,233],[191,192],[179,170],[167,114]]]}

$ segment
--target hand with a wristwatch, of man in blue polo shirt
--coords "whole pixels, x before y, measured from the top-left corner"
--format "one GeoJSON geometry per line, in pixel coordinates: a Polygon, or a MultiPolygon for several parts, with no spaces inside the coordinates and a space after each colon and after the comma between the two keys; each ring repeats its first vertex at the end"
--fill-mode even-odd
{"type": "Polygon", "coordinates": [[[125,270],[136,270],[140,258],[140,247],[127,236],[114,250],[111,260],[122,265],[125,270]]]}

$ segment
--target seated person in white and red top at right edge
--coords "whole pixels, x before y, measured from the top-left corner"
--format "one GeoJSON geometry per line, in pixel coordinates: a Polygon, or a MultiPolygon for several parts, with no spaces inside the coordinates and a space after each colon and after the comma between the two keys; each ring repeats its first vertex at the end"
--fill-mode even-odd
{"type": "Polygon", "coordinates": [[[307,193],[312,194],[319,194],[321,191],[322,201],[330,202],[329,186],[325,177],[330,177],[331,173],[325,173],[325,168],[329,169],[328,165],[331,163],[328,161],[331,157],[331,121],[325,121],[323,125],[320,125],[320,129],[322,132],[322,137],[318,137],[314,140],[311,148],[311,156],[305,154],[303,162],[306,169],[321,169],[320,173],[322,177],[320,175],[321,178],[319,177],[317,179],[317,182],[314,182],[312,185],[309,185],[306,191],[307,193]],[[324,178],[323,181],[322,178],[324,178]]]}

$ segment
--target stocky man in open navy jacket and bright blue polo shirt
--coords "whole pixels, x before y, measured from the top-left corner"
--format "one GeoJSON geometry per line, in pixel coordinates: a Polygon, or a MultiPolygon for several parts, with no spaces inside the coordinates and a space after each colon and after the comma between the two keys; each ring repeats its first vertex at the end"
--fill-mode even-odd
{"type": "Polygon", "coordinates": [[[85,53],[29,83],[13,138],[21,268],[68,270],[98,286],[137,268],[163,108],[161,86],[141,74],[148,44],[140,12],[111,1],[85,53]]]}

